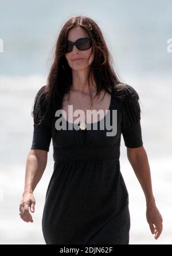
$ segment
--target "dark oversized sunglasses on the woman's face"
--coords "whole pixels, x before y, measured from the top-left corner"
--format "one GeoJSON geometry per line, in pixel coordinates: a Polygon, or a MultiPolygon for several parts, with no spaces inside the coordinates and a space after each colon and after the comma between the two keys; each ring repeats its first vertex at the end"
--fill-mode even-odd
{"type": "Polygon", "coordinates": [[[73,45],[76,45],[76,47],[80,51],[85,51],[85,50],[91,48],[92,41],[89,37],[81,37],[81,38],[77,39],[75,42],[68,40],[66,48],[65,48],[65,52],[71,52],[73,49],[73,45]]]}

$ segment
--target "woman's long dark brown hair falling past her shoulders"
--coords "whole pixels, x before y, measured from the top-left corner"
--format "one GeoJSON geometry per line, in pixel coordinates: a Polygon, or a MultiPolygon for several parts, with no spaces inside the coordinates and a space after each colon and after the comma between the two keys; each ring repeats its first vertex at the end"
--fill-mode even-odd
{"type": "MultiPolygon", "coordinates": [[[[93,62],[89,66],[87,78],[89,92],[91,92],[90,81],[92,81],[92,77],[95,79],[97,88],[95,97],[100,95],[102,89],[110,94],[111,91],[112,94],[115,94],[115,91],[119,90],[119,86],[117,85],[122,83],[112,66],[111,54],[108,51],[104,37],[96,22],[85,16],[72,17],[62,26],[58,35],[53,64],[50,67],[47,84],[41,87],[34,101],[36,102],[37,96],[40,93],[43,93],[45,96],[44,103],[46,102],[46,108],[40,116],[40,123],[43,120],[49,120],[49,118],[52,120],[57,110],[57,102],[62,100],[65,93],[69,93],[72,85],[72,71],[67,59],[65,59],[65,47],[67,45],[69,29],[75,26],[81,26],[81,28],[86,30],[92,41],[92,52],[95,54],[93,62]]],[[[32,112],[33,115],[34,110],[32,112]]]]}

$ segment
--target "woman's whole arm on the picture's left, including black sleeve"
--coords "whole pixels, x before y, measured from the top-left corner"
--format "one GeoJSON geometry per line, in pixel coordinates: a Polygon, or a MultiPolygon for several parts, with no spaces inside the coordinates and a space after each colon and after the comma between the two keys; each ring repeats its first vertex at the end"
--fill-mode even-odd
{"type": "Polygon", "coordinates": [[[44,101],[44,90],[42,90],[44,87],[45,86],[41,87],[38,91],[34,101],[32,147],[30,148],[26,161],[25,187],[24,193],[22,194],[22,200],[19,205],[19,215],[22,220],[27,222],[33,222],[32,215],[30,214],[30,212],[34,212],[34,205],[36,204],[33,191],[44,173],[50,141],[52,139],[52,127],[50,120],[39,124],[47,105],[46,101],[44,101]]]}

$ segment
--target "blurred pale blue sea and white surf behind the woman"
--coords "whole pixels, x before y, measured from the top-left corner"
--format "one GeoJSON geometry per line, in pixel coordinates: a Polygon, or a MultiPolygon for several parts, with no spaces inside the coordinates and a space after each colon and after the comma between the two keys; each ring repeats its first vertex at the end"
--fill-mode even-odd
{"type": "Polygon", "coordinates": [[[172,243],[172,52],[167,51],[171,10],[170,0],[0,1],[0,244],[45,244],[41,219],[53,172],[52,142],[44,175],[34,190],[34,222],[26,223],[18,215],[33,137],[31,110],[37,91],[46,84],[58,33],[77,15],[97,22],[115,71],[140,96],[143,146],[163,232],[158,240],[150,232],[144,194],[122,137],[120,169],[130,200],[130,244],[172,243]]]}

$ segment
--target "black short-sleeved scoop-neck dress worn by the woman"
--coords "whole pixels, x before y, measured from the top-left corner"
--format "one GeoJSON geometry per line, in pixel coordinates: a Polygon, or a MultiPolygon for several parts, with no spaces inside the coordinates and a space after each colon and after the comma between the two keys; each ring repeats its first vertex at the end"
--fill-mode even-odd
{"type": "Polygon", "coordinates": [[[126,147],[140,147],[143,142],[138,94],[132,86],[124,87],[118,92],[120,99],[112,94],[97,130],[93,124],[91,129],[78,131],[67,126],[67,130],[56,130],[53,138],[50,125],[37,124],[44,105],[42,93],[37,97],[31,149],[49,151],[52,139],[54,158],[42,216],[46,244],[129,243],[128,192],[119,162],[121,134],[126,147]],[[117,110],[117,117],[112,110],[117,110]],[[117,121],[114,136],[106,136],[110,131],[100,129],[107,114],[111,125],[113,119],[117,121]]]}

